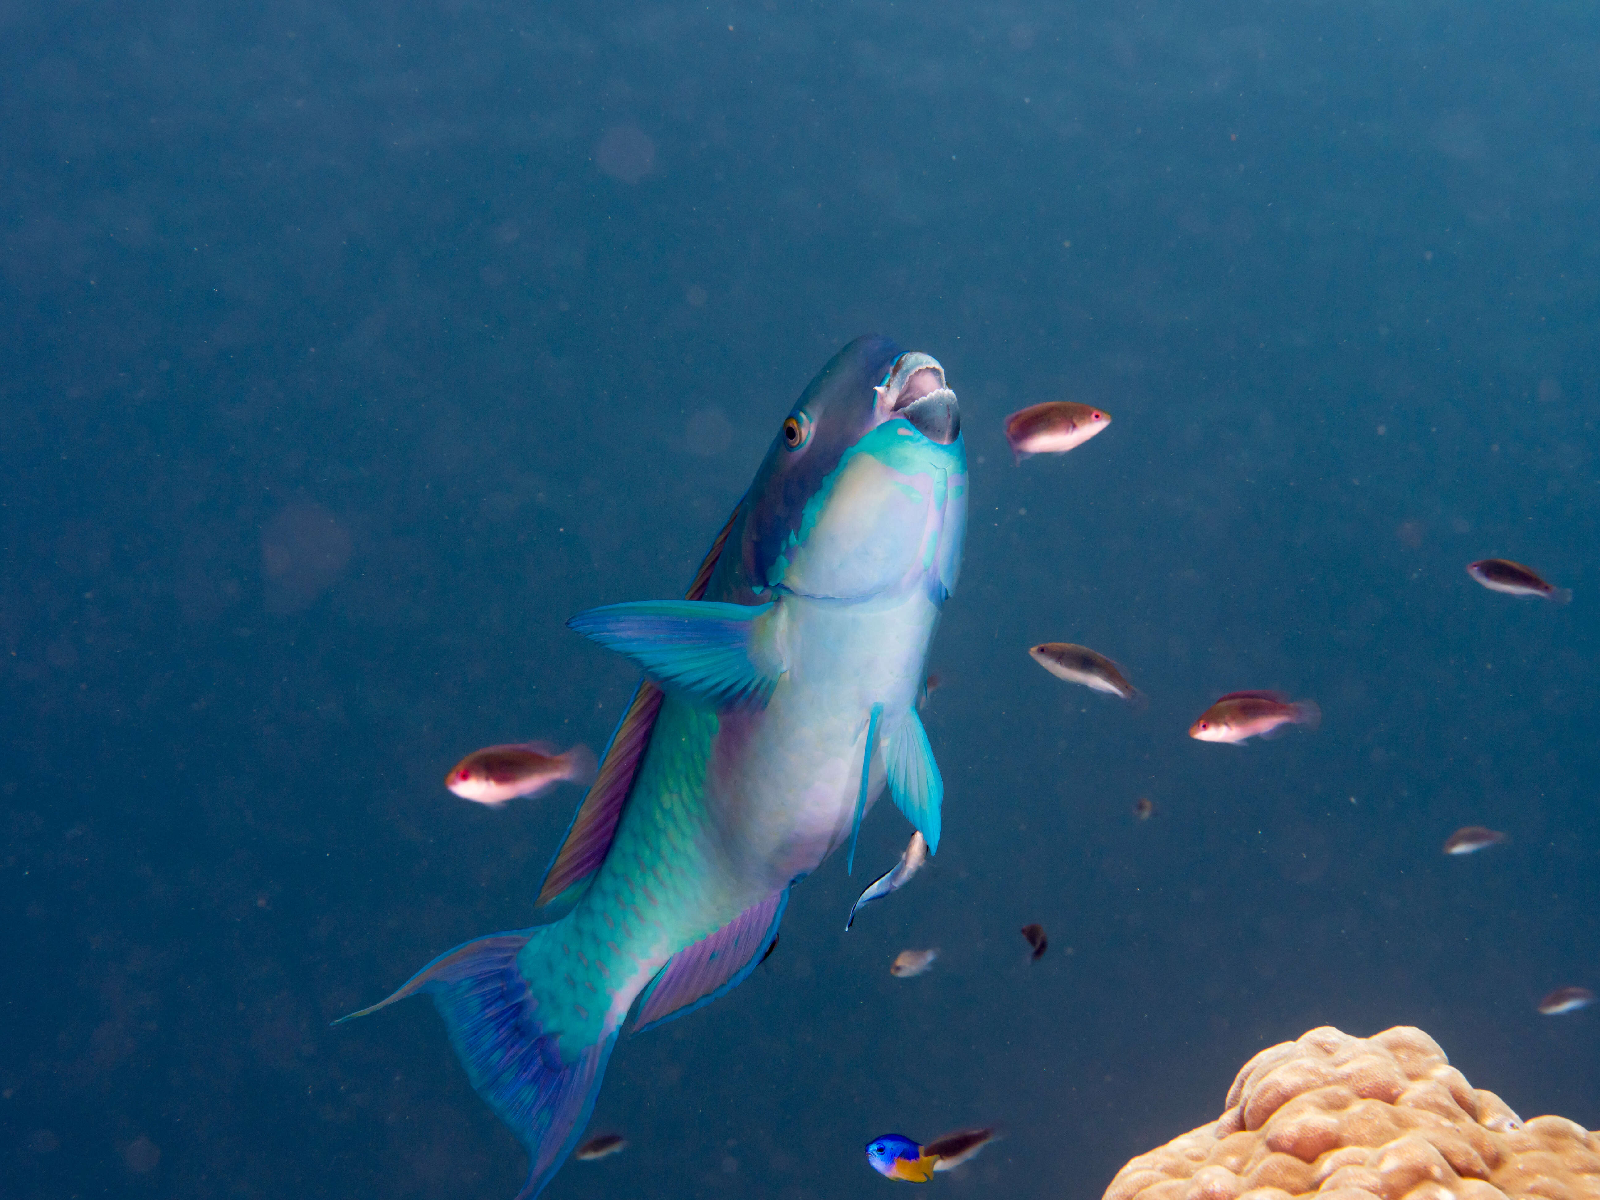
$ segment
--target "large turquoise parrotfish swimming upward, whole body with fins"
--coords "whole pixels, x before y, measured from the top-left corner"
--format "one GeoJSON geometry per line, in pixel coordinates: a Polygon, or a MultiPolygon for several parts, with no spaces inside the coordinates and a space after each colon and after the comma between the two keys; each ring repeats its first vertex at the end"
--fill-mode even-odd
{"type": "Polygon", "coordinates": [[[789,888],[853,856],[883,790],[938,851],[917,699],[965,526],[944,368],[861,338],[778,424],[686,600],[568,622],[645,672],[544,877],[539,902],[570,912],[459,946],[352,1014],[432,995],[528,1149],[523,1198],[582,1136],[629,1014],[648,1029],[742,982],[789,888]]]}

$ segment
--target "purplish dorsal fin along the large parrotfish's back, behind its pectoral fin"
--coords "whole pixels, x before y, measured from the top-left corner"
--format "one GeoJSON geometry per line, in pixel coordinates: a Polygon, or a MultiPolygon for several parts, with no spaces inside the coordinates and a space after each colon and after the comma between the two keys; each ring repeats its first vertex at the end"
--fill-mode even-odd
{"type": "MultiPolygon", "coordinates": [[[[688,600],[699,600],[710,584],[710,573],[717,570],[722,558],[722,547],[728,544],[728,534],[734,522],[739,520],[742,501],[734,506],[722,533],[717,534],[694,573],[690,584],[688,600]]],[[[654,683],[640,683],[634,691],[634,699],[611,733],[611,741],[605,747],[600,773],[584,794],[573,816],[573,824],[566,827],[562,848],[550,859],[550,867],[544,872],[544,885],[539,888],[539,904],[550,904],[562,893],[578,888],[589,880],[605,862],[611,850],[611,838],[616,837],[616,822],[622,819],[622,808],[634,790],[634,776],[645,758],[650,746],[650,734],[656,728],[656,715],[661,712],[661,688],[654,683]]]]}

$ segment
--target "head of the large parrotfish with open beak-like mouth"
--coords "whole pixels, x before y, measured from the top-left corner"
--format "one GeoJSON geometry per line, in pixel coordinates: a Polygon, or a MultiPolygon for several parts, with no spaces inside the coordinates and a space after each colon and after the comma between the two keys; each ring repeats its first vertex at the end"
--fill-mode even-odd
{"type": "Polygon", "coordinates": [[[966,526],[962,414],[944,368],[858,338],[784,418],[749,493],[739,563],[757,595],[866,600],[955,587],[966,526]]]}

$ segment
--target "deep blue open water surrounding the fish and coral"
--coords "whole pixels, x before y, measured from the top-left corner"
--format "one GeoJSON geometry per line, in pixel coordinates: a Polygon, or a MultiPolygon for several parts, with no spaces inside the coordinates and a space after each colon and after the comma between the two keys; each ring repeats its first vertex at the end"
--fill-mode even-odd
{"type": "Polygon", "coordinates": [[[1597,58],[1578,3],[0,5],[0,1195],[510,1197],[430,1005],[328,1021],[536,920],[578,792],[443,773],[605,742],[563,621],[680,594],[864,331],[973,464],[941,853],[843,934],[882,805],[547,1195],[998,1123],[936,1189],[1094,1200],[1318,1024],[1600,1125],[1600,1010],[1534,1011],[1600,989],[1597,58]],[[1013,466],[1056,398],[1114,424],[1013,466]],[[1323,726],[1190,741],[1238,688],[1323,726]]]}

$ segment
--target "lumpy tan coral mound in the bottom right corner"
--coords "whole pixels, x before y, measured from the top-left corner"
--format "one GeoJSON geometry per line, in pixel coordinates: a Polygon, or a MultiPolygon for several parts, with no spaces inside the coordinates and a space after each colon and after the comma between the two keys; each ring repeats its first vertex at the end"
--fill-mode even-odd
{"type": "Polygon", "coordinates": [[[1123,1166],[1104,1200],[1600,1200],[1600,1134],[1523,1123],[1421,1029],[1262,1050],[1226,1112],[1123,1166]]]}

